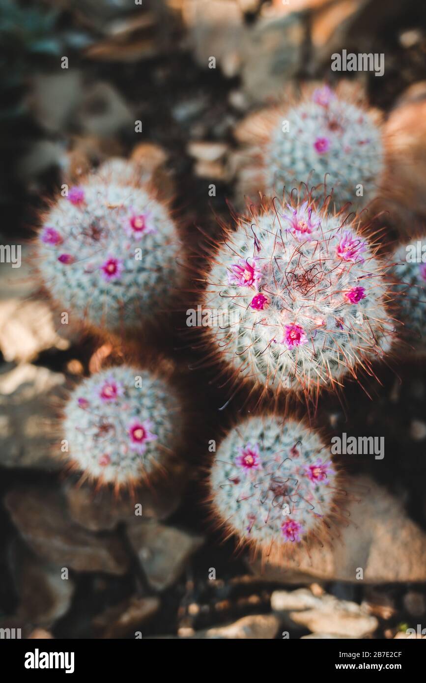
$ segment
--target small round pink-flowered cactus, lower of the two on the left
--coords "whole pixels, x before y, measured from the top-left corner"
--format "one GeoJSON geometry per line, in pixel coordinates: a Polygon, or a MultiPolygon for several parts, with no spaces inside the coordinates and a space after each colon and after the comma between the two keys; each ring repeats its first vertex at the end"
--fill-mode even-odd
{"type": "Polygon", "coordinates": [[[182,441],[182,406],[147,370],[111,367],[83,380],[65,408],[63,438],[74,469],[131,487],[167,470],[182,441]]]}

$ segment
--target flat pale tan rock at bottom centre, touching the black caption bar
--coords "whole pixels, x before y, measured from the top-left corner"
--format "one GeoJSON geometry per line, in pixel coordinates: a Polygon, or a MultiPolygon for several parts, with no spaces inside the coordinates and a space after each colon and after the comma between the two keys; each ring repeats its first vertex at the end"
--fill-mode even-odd
{"type": "MultiPolygon", "coordinates": [[[[270,640],[276,636],[280,622],[273,614],[255,614],[242,617],[233,624],[213,626],[193,635],[183,636],[186,640],[270,640]]],[[[178,639],[179,636],[160,636],[166,639],[178,639]]]]}

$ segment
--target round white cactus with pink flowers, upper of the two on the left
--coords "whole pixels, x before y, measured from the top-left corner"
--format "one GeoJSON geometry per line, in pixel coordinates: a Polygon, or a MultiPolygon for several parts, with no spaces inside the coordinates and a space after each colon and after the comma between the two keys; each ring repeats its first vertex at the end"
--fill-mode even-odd
{"type": "Polygon", "coordinates": [[[38,241],[42,280],[71,316],[118,331],[171,307],[180,241],[146,186],[89,176],[51,208],[38,241]]]}

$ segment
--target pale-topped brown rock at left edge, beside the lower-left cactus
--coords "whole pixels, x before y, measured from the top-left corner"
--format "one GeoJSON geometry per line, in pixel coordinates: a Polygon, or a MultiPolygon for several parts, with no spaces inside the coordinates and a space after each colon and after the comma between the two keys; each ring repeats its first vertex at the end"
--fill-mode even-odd
{"type": "Polygon", "coordinates": [[[63,467],[53,451],[55,420],[52,404],[65,378],[46,367],[18,365],[0,374],[0,464],[5,467],[63,467]]]}

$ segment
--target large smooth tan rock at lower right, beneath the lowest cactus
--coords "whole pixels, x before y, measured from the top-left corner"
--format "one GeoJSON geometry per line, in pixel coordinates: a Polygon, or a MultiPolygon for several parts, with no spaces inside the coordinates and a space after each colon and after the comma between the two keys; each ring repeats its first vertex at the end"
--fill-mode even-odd
{"type": "Polygon", "coordinates": [[[337,525],[341,538],[333,533],[332,546],[311,546],[309,555],[295,548],[294,557],[282,561],[271,554],[263,569],[260,560],[252,561],[253,572],[264,581],[283,583],[311,583],[313,577],[358,583],[360,569],[363,583],[426,581],[426,535],[400,501],[368,477],[354,477],[350,490],[361,500],[345,504],[349,524],[337,525]]]}

